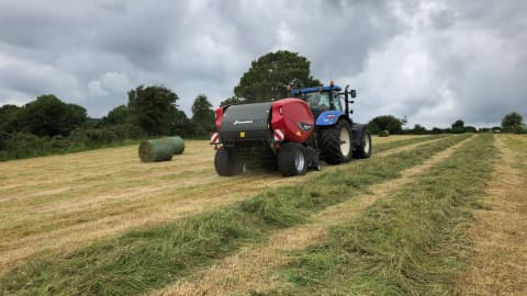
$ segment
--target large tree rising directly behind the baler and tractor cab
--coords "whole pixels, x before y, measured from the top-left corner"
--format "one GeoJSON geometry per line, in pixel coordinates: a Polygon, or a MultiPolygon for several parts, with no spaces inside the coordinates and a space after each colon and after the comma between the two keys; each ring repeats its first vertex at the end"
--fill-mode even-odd
{"type": "Polygon", "coordinates": [[[321,81],[311,76],[311,62],[298,53],[278,50],[254,60],[248,71],[234,88],[244,103],[266,102],[288,96],[285,84],[295,81],[295,87],[316,87],[321,81]]]}

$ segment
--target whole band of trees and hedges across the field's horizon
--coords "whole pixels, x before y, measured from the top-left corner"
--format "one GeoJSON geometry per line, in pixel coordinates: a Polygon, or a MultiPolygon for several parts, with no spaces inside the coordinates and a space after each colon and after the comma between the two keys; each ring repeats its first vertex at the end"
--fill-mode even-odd
{"type": "MultiPolygon", "coordinates": [[[[322,86],[311,73],[307,58],[288,50],[268,53],[251,61],[221,105],[267,102],[289,96],[287,87],[322,86]]],[[[89,118],[85,107],[63,102],[54,94],[37,96],[23,105],[0,107],[0,160],[71,152],[126,143],[128,139],[179,135],[208,137],[214,129],[214,111],[205,94],[195,98],[192,116],[178,109],[180,98],[164,86],[138,86],[127,92],[127,104],[102,118],[89,118]]],[[[507,114],[504,132],[525,129],[517,113],[507,114]]],[[[476,132],[457,121],[449,128],[428,130],[416,124],[404,128],[406,118],[378,116],[369,122],[373,134],[440,134],[476,132]]]]}

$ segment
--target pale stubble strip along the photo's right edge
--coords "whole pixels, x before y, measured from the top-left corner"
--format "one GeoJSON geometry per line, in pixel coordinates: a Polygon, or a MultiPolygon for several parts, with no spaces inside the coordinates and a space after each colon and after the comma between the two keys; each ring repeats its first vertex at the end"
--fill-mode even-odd
{"type": "Polygon", "coordinates": [[[469,230],[470,267],[459,295],[527,295],[527,137],[496,135],[500,161],[469,230]]]}

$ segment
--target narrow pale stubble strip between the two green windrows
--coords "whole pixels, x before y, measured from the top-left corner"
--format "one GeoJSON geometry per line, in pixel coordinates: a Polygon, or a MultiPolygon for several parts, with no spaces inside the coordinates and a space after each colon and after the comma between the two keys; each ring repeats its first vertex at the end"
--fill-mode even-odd
{"type": "Polygon", "coordinates": [[[369,186],[366,192],[354,192],[354,196],[321,210],[307,224],[277,231],[264,246],[242,248],[239,252],[197,273],[192,278],[179,281],[153,295],[237,295],[279,285],[273,269],[285,264],[288,252],[323,240],[329,226],[358,215],[391,191],[411,182],[415,175],[448,158],[467,140],[434,155],[422,164],[404,170],[399,178],[369,186]]]}

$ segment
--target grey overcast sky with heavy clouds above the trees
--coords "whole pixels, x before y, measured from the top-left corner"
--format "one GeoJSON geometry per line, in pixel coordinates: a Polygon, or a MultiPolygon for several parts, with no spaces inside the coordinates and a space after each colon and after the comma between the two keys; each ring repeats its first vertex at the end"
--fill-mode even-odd
{"type": "Polygon", "coordinates": [[[250,61],[288,49],[357,89],[354,118],[527,119],[526,0],[0,0],[0,105],[54,93],[101,117],[138,84],[216,107],[250,61]]]}

